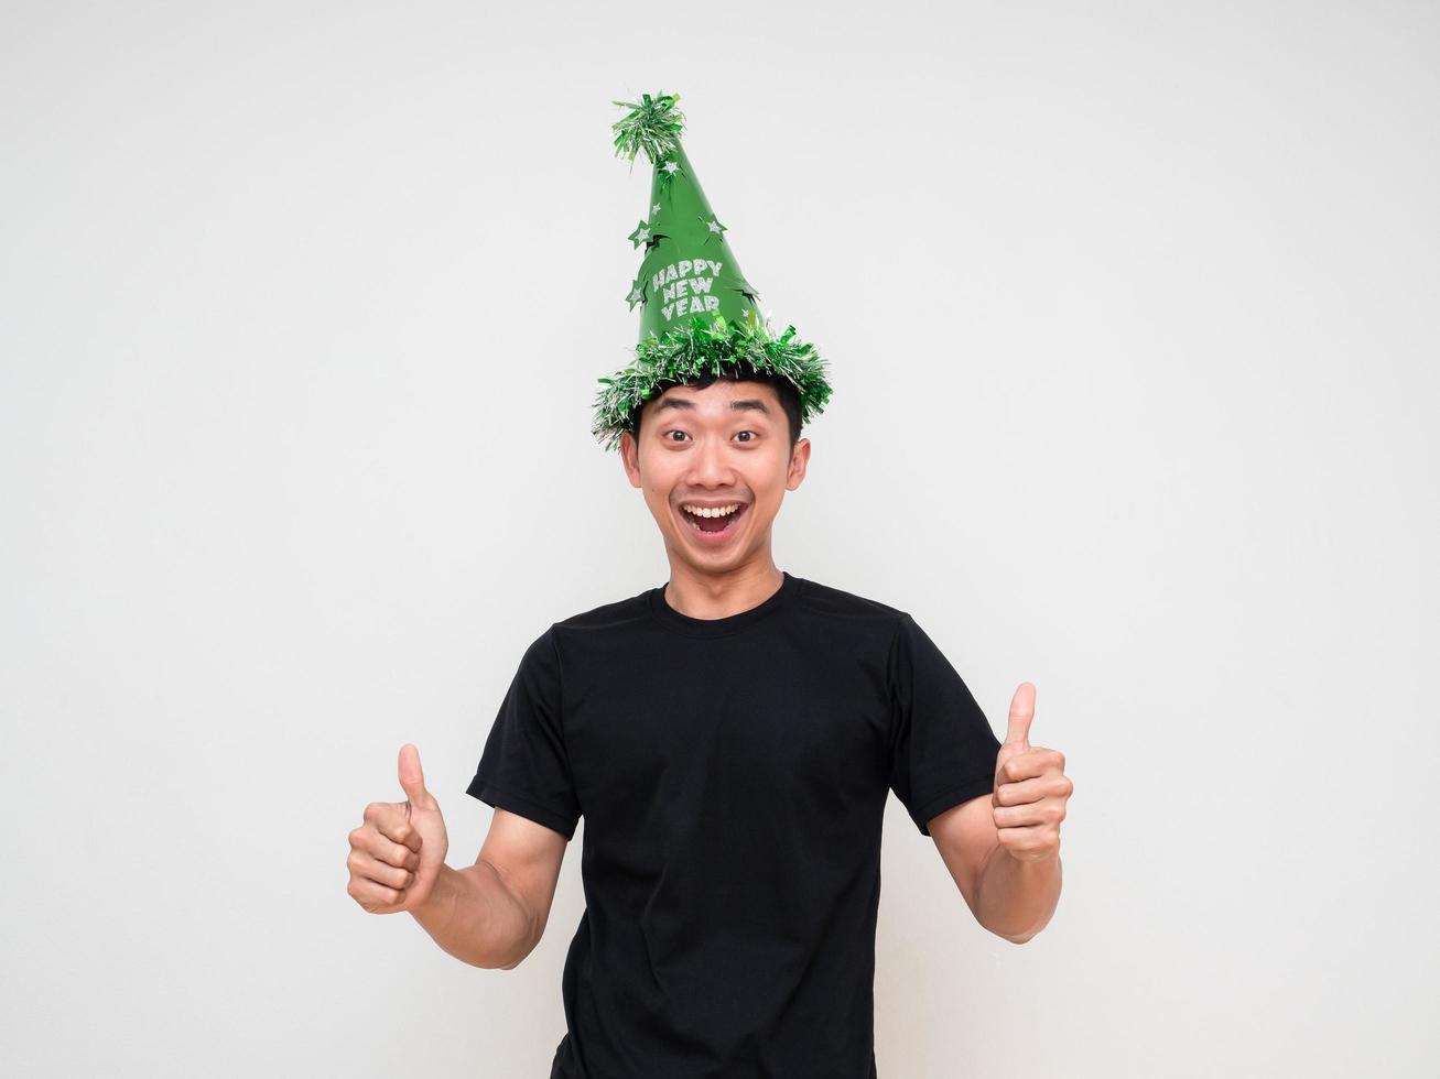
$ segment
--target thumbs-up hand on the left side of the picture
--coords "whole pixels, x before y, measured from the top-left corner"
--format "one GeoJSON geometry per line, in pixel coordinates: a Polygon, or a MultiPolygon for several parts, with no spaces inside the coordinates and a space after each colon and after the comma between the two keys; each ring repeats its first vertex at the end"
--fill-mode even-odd
{"type": "Polygon", "coordinates": [[[346,891],[370,914],[413,911],[431,896],[449,834],[439,803],[425,790],[420,751],[400,747],[405,801],[372,801],[364,823],[350,833],[350,883],[346,891]]]}

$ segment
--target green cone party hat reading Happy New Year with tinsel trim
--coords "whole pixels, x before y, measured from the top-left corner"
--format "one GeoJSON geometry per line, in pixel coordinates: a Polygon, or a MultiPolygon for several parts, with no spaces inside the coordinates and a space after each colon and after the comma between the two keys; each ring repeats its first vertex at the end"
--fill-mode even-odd
{"type": "Polygon", "coordinates": [[[831,396],[825,361],[795,338],[776,337],[756,306],[755,288],[740,273],[726,226],[716,217],[680,145],[684,117],[678,94],[645,94],[616,101],[631,109],[616,121],[615,154],[632,161],[644,152],[654,165],[645,217],[629,235],[644,249],[626,301],[641,305],[635,358],[600,378],[593,434],[606,449],[619,446],[634,413],[667,386],[701,374],[753,370],[788,378],[799,391],[801,423],[818,416],[831,396]]]}

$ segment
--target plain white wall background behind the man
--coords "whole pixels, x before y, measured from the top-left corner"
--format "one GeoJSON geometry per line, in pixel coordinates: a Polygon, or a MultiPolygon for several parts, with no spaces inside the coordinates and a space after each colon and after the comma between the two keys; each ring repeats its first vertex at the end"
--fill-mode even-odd
{"type": "Polygon", "coordinates": [[[1420,3],[7,3],[0,1070],[549,1073],[583,824],[508,973],[346,834],[413,741],[469,865],[524,646],[667,578],[645,91],[831,363],[778,564],[1074,781],[1024,947],[891,798],[883,1079],[1440,1070],[1420,3]]]}

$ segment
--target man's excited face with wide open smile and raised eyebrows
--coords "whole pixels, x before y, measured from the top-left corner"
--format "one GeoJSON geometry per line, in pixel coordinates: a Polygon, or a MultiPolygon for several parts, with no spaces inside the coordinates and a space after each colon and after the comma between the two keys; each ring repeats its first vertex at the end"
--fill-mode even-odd
{"type": "Polygon", "coordinates": [[[639,442],[622,434],[621,457],[670,557],[720,573],[769,560],[770,522],[785,492],[805,478],[809,439],[791,453],[789,422],[773,386],[717,378],[704,390],[672,386],[645,401],[639,442]],[[737,509],[700,516],[685,506],[737,509]]]}

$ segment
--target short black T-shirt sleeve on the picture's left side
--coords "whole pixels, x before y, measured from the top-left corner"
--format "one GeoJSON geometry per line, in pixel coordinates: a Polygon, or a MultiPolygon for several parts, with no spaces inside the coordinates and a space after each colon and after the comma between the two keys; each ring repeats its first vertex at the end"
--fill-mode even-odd
{"type": "Polygon", "coordinates": [[[580,807],[564,754],[553,626],[526,649],[465,793],[575,836],[580,807]]]}

